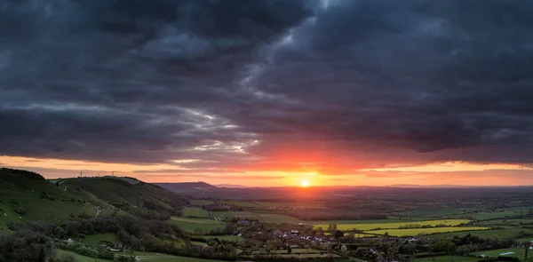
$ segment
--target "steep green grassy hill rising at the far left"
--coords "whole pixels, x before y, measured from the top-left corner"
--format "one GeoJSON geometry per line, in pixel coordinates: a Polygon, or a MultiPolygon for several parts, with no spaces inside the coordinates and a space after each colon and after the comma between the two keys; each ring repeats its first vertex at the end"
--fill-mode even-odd
{"type": "Polygon", "coordinates": [[[46,180],[31,171],[0,168],[0,231],[10,223],[116,215],[165,218],[188,201],[132,178],[46,180]]]}

